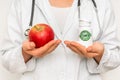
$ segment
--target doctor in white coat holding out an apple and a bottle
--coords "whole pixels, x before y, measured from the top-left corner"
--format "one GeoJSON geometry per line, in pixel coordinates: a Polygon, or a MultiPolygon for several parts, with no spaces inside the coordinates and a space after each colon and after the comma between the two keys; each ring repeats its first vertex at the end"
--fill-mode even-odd
{"type": "Polygon", "coordinates": [[[24,35],[32,0],[15,0],[8,17],[8,36],[0,44],[3,65],[21,73],[21,80],[102,80],[101,73],[120,64],[120,54],[111,4],[109,0],[95,3],[36,0],[33,25],[46,23],[55,32],[55,40],[36,49],[24,35]],[[93,44],[88,47],[78,43],[79,19],[91,23],[93,44]]]}

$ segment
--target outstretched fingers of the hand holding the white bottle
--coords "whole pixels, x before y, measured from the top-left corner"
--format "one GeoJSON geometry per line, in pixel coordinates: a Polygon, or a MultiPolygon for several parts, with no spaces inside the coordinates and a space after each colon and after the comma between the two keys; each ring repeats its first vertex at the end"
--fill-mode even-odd
{"type": "Polygon", "coordinates": [[[75,53],[79,54],[79,55],[83,55],[86,58],[93,58],[98,56],[99,54],[96,52],[96,49],[94,50],[94,48],[92,46],[90,46],[89,48],[85,48],[84,46],[82,46],[81,44],[74,42],[74,41],[65,41],[64,42],[66,44],[67,47],[69,47],[72,51],[74,51],[75,53]]]}

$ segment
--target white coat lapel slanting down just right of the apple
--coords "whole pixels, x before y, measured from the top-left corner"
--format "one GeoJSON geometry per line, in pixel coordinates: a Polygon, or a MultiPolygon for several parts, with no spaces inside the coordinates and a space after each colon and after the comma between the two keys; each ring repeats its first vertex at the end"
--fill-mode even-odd
{"type": "Polygon", "coordinates": [[[41,12],[44,14],[43,16],[46,18],[46,21],[48,22],[48,24],[54,30],[56,38],[62,39],[60,29],[54,22],[54,18],[53,18],[51,11],[50,11],[49,4],[48,4],[47,0],[37,0],[36,5],[39,7],[41,12]]]}

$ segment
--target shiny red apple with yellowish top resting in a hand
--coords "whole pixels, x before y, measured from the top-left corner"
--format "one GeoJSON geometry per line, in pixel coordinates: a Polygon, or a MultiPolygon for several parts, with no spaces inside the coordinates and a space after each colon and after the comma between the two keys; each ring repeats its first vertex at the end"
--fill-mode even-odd
{"type": "Polygon", "coordinates": [[[28,36],[29,40],[35,43],[36,48],[39,48],[54,39],[54,32],[47,24],[37,24],[30,29],[28,36]]]}

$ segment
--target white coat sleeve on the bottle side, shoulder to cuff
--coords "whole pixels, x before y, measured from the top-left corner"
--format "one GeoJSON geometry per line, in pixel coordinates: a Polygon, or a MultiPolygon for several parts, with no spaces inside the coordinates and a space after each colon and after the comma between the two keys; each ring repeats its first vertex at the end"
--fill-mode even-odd
{"type": "Polygon", "coordinates": [[[91,74],[106,72],[116,68],[120,64],[120,43],[116,37],[116,23],[110,5],[105,11],[103,22],[103,34],[99,41],[105,46],[104,54],[99,64],[97,64],[93,58],[87,60],[88,71],[91,74]]]}

